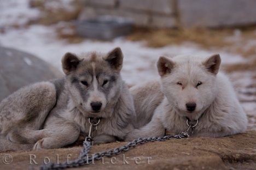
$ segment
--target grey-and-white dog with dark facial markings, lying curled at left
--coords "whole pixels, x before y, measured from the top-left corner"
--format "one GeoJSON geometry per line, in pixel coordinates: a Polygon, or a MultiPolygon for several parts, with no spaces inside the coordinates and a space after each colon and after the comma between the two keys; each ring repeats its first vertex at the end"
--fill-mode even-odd
{"type": "Polygon", "coordinates": [[[124,139],[133,129],[132,96],[122,81],[121,49],[84,56],[66,53],[66,76],[21,88],[0,104],[0,150],[50,149],[74,143],[80,132],[95,143],[124,139]],[[89,119],[90,118],[90,119],[89,119]]]}

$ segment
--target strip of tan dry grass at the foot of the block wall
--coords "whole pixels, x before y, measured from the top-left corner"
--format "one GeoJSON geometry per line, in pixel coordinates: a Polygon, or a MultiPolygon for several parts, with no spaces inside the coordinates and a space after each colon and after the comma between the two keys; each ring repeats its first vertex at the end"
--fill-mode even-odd
{"type": "Polygon", "coordinates": [[[225,41],[225,37],[231,36],[231,29],[211,30],[196,29],[147,29],[137,28],[135,33],[127,37],[132,41],[146,40],[150,47],[162,47],[171,44],[182,44],[192,41],[204,48],[229,46],[232,43],[225,41]]]}

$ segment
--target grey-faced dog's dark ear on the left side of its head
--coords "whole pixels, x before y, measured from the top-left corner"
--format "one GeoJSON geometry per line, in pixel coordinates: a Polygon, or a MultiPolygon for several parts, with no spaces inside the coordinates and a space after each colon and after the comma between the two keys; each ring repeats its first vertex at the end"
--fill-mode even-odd
{"type": "Polygon", "coordinates": [[[77,69],[78,64],[80,63],[80,59],[70,52],[67,52],[61,60],[62,70],[68,75],[71,71],[77,69]]]}

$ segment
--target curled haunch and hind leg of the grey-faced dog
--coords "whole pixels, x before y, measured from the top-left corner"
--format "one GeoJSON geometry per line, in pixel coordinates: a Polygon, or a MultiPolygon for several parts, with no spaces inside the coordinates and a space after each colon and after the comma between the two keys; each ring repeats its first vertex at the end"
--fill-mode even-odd
{"type": "Polygon", "coordinates": [[[1,148],[22,148],[42,138],[46,117],[56,104],[56,89],[51,82],[39,82],[19,89],[0,103],[1,148]],[[11,147],[13,144],[13,147],[11,147]],[[25,145],[28,144],[28,145],[25,145]]]}

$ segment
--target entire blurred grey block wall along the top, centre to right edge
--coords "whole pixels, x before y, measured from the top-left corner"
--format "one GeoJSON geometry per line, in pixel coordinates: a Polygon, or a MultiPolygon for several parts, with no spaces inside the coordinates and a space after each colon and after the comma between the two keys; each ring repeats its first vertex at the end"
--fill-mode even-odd
{"type": "Polygon", "coordinates": [[[256,23],[256,0],[84,0],[80,19],[98,15],[133,19],[137,26],[229,27],[256,23]]]}

